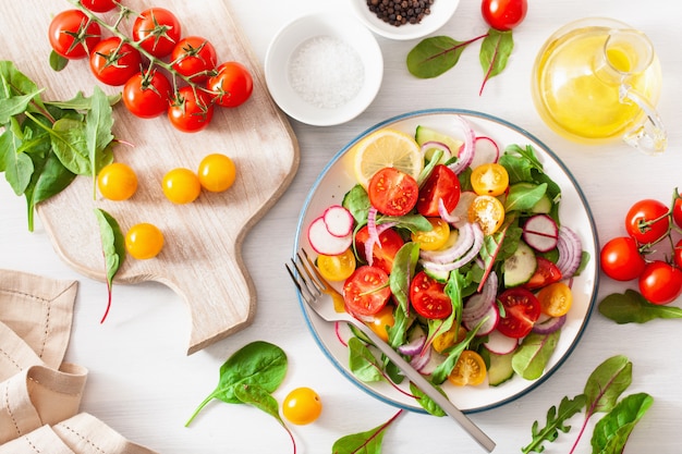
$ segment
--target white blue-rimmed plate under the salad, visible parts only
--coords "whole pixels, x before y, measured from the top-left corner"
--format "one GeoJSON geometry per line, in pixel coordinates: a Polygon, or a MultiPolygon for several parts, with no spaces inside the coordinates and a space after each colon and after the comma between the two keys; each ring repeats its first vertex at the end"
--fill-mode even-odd
{"type": "MultiPolygon", "coordinates": [[[[476,135],[484,135],[495,139],[499,145],[500,154],[503,152],[507,146],[513,144],[521,147],[526,145],[533,146],[537,158],[544,165],[545,173],[562,189],[559,210],[560,219],[564,225],[577,233],[582,241],[583,250],[589,254],[586,267],[580,275],[572,280],[573,305],[561,329],[557,348],[540,378],[528,381],[516,375],[498,386],[489,386],[487,383],[484,383],[478,386],[460,388],[447,381],[442,384],[443,391],[458,407],[466,413],[475,413],[507,404],[528,393],[556,372],[579,344],[594,306],[599,279],[596,228],[585,196],[573,175],[557,155],[524,130],[485,113],[456,109],[437,109],[411,112],[389,119],[355,137],[322,170],[304,203],[299,219],[294,251],[300,248],[304,248],[309,253],[313,251],[307,241],[307,226],[316,217],[324,212],[325,208],[332,204],[341,204],[344,194],[356,184],[353,173],[352,148],[357,142],[383,127],[392,127],[414,134],[418,125],[428,126],[442,133],[451,134],[454,137],[461,137],[461,130],[456,122],[453,121],[454,115],[464,118],[474,128],[476,135]]],[[[314,253],[312,257],[315,257],[314,253]]],[[[340,287],[341,285],[339,284],[339,290],[340,287]]],[[[299,298],[299,302],[315,341],[341,373],[382,402],[409,410],[425,412],[413,397],[402,394],[386,381],[364,383],[355,378],[348,366],[348,347],[340,342],[334,324],[324,321],[301,298],[299,298]]],[[[406,389],[406,384],[403,384],[403,386],[406,389]]]]}

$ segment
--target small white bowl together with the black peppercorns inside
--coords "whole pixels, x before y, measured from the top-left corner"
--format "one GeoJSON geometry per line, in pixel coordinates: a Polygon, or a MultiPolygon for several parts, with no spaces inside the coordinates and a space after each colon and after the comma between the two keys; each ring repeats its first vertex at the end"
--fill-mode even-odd
{"type": "Polygon", "coordinates": [[[417,39],[452,17],[459,0],[349,0],[355,15],[374,33],[389,39],[417,39]]]}

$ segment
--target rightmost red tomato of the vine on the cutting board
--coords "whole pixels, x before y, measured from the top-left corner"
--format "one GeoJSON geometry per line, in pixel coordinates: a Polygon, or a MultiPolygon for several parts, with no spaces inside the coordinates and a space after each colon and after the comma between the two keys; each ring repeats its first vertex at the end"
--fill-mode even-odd
{"type": "Polygon", "coordinates": [[[207,88],[217,94],[214,102],[222,107],[238,107],[246,102],[254,90],[254,79],[241,63],[229,61],[216,70],[208,79],[207,88]]]}

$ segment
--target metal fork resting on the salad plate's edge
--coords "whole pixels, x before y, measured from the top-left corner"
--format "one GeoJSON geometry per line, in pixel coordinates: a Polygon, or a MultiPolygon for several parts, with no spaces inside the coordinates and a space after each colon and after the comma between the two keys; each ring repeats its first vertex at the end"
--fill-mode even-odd
{"type": "Polygon", "coordinates": [[[440,393],[422,373],[403,359],[398,352],[395,352],[389,344],[383,342],[378,335],[374,333],[365,323],[352,317],[350,314],[343,311],[338,312],[334,309],[334,305],[330,304],[325,295],[330,296],[332,299],[343,297],[337,292],[325,279],[321,277],[317,267],[313,260],[308,257],[305,249],[301,249],[301,253],[296,254],[296,257],[291,259],[292,268],[289,265],[284,265],[289,275],[296,285],[301,298],[322,319],[327,321],[345,321],[352,323],[358,330],[361,330],[369,340],[379,348],[393,364],[407,377],[412,382],[436,402],[440,408],[443,409],[452,419],[454,419],[460,426],[468,432],[468,434],[478,442],[487,452],[492,452],[495,449],[495,442],[480,430],[466,415],[462,413],[452,402],[440,393]],[[296,260],[297,258],[297,260],[296,260]]]}

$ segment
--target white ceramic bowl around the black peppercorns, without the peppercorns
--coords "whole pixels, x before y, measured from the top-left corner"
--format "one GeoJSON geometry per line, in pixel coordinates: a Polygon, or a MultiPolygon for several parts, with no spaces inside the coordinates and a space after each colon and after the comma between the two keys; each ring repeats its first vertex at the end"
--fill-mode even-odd
{"type": "Polygon", "coordinates": [[[417,39],[438,30],[446,25],[454,14],[460,0],[436,0],[431,5],[430,14],[424,16],[418,24],[405,24],[399,27],[383,22],[369,11],[367,0],[349,0],[355,15],[370,30],[389,39],[417,39]]]}

